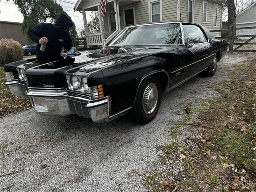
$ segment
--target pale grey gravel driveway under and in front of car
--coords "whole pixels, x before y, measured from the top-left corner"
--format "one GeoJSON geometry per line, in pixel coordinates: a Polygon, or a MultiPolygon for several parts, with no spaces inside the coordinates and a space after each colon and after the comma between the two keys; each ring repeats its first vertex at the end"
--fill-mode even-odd
{"type": "Polygon", "coordinates": [[[157,160],[156,146],[170,140],[168,122],[182,117],[186,103],[216,96],[213,86],[245,59],[246,54],[227,55],[215,76],[197,76],[164,94],[158,115],[146,125],[127,116],[95,124],[33,110],[0,118],[0,191],[146,191],[141,177],[131,173],[143,174],[157,160]]]}

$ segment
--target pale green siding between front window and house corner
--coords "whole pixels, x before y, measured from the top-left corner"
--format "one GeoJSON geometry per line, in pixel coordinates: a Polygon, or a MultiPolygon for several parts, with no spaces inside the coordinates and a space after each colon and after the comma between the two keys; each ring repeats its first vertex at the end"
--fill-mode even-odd
{"type": "Polygon", "coordinates": [[[177,1],[176,0],[162,0],[162,17],[163,21],[177,20],[177,1]]]}

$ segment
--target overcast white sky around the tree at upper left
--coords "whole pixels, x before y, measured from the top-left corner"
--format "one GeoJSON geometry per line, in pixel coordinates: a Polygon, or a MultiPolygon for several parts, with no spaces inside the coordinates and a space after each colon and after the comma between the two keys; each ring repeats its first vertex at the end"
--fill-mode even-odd
{"type": "MultiPolygon", "coordinates": [[[[76,0],[68,0],[69,2],[74,2],[76,3],[76,0]]],[[[64,3],[64,2],[59,2],[57,0],[58,4],[60,4],[66,13],[69,14],[69,16],[72,18],[76,25],[76,30],[78,31],[84,24],[83,21],[83,14],[79,13],[78,11],[74,12],[74,4],[69,4],[69,3],[64,3]]],[[[11,22],[22,22],[23,21],[23,16],[22,14],[18,11],[18,7],[14,4],[12,0],[9,2],[6,2],[6,0],[2,0],[0,2],[0,20],[1,21],[11,21],[11,22]]],[[[90,19],[90,12],[86,12],[86,18],[87,22],[89,22],[90,19]]]]}

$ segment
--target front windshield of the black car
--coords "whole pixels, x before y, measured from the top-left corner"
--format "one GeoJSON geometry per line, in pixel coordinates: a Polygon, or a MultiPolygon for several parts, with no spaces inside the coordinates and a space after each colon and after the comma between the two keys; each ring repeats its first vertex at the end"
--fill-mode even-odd
{"type": "Polygon", "coordinates": [[[108,46],[182,44],[180,24],[153,24],[125,28],[108,46]]]}

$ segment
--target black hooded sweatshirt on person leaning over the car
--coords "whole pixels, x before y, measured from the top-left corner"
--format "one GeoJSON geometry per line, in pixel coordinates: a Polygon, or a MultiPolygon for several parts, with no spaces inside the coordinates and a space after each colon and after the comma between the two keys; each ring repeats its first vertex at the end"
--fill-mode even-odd
{"type": "Polygon", "coordinates": [[[64,50],[70,50],[72,47],[72,40],[69,32],[64,30],[73,26],[73,22],[64,13],[61,13],[54,24],[42,23],[34,26],[28,30],[30,39],[37,43],[36,57],[42,60],[58,60],[62,47],[64,50]],[[48,43],[44,52],[40,50],[41,44],[39,40],[42,37],[48,39],[48,43]]]}

